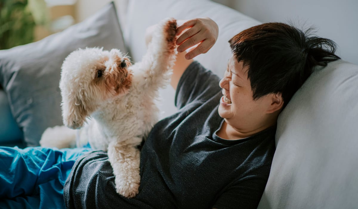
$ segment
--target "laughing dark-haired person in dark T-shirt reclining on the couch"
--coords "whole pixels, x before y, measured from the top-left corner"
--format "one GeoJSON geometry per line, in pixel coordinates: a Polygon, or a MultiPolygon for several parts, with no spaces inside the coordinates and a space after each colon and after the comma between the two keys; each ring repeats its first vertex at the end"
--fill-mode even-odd
{"type": "MultiPolygon", "coordinates": [[[[81,150],[73,158],[78,158],[76,163],[69,163],[66,171],[73,165],[69,175],[59,178],[54,172],[57,187],[41,190],[31,184],[21,193],[18,187],[9,187],[9,182],[16,181],[8,181],[10,189],[4,189],[1,197],[13,190],[29,196],[35,194],[30,190],[40,190],[41,195],[53,188],[61,196],[63,184],[58,179],[67,179],[63,194],[68,208],[256,208],[275,151],[277,117],[313,66],[339,59],[334,42],[282,23],[258,25],[230,39],[232,57],[220,80],[192,61],[216,42],[216,23],[209,18],[189,20],[178,27],[177,34],[179,54],[171,85],[176,89],[178,112],[158,122],[144,143],[141,185],[135,198],[116,193],[105,152],[79,157],[81,150]]],[[[26,153],[35,149],[40,148],[28,148],[26,153]]],[[[16,152],[25,152],[6,151],[1,157],[10,156],[9,162],[18,158],[16,152]]],[[[26,153],[22,163],[32,160],[26,153]]],[[[13,165],[18,168],[20,164],[13,165]]]]}

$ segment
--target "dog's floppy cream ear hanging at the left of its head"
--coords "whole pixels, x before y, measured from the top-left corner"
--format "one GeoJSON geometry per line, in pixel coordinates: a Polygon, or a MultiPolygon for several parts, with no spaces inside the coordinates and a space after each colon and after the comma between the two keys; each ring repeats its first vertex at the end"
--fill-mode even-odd
{"type": "Polygon", "coordinates": [[[75,96],[68,101],[62,102],[63,123],[68,128],[81,128],[86,121],[87,110],[83,101],[75,96]]]}

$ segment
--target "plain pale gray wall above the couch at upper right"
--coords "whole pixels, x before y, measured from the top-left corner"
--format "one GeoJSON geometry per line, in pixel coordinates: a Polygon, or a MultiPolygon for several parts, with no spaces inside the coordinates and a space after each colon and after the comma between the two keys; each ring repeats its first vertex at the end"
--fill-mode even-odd
{"type": "Polygon", "coordinates": [[[358,65],[358,0],[215,0],[260,22],[314,26],[338,45],[337,54],[358,65]]]}

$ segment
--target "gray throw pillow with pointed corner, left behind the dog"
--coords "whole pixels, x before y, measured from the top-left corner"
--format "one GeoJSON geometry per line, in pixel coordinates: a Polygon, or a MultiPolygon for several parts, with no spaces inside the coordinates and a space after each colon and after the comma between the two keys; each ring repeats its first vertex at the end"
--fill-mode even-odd
{"type": "Polygon", "coordinates": [[[47,127],[63,124],[61,65],[69,53],[85,47],[119,48],[127,52],[113,3],[60,33],[0,51],[0,84],[27,146],[39,146],[47,127]]]}

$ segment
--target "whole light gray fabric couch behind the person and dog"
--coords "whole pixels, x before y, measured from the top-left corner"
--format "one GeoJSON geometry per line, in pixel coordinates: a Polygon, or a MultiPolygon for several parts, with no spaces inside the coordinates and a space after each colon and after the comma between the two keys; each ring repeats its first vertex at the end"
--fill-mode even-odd
{"type": "MultiPolygon", "coordinates": [[[[227,42],[229,38],[260,24],[236,10],[208,0],[116,2],[117,11],[121,8],[121,34],[118,34],[118,39],[122,39],[123,34],[124,44],[103,44],[103,47],[127,50],[133,61],[139,61],[145,53],[144,32],[148,26],[168,16],[176,19],[208,16],[217,22],[219,38],[209,52],[201,54],[196,60],[219,76],[223,75],[231,55],[227,42]]],[[[106,35],[100,34],[103,40],[88,45],[97,46],[101,41],[105,42],[108,40],[106,35]]],[[[1,57],[4,56],[0,52],[0,73],[4,71],[1,70],[1,57]]],[[[4,81],[1,85],[5,86],[5,91],[1,90],[0,96],[5,92],[8,94],[10,109],[15,115],[15,120],[10,117],[8,123],[23,126],[20,122],[25,116],[19,117],[20,113],[14,108],[15,101],[11,100],[11,94],[14,93],[4,81]]],[[[171,87],[160,90],[161,101],[158,105],[163,111],[161,117],[175,111],[174,94],[171,87]]],[[[9,107],[4,108],[4,105],[1,109],[9,111],[9,107]]],[[[58,111],[56,114],[58,117],[58,111]]],[[[43,120],[46,122],[46,118],[43,120]]],[[[51,124],[56,123],[61,124],[61,121],[51,124]]],[[[15,132],[19,131],[21,135],[21,129],[15,132]]],[[[358,66],[338,60],[326,67],[316,67],[279,116],[276,152],[258,208],[357,208],[357,148],[358,66]]]]}

